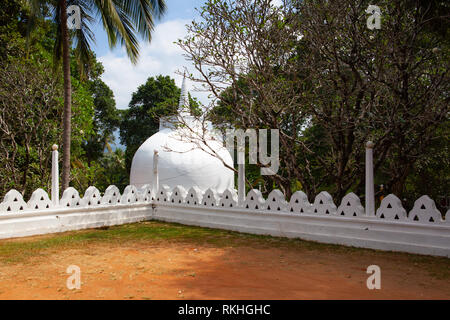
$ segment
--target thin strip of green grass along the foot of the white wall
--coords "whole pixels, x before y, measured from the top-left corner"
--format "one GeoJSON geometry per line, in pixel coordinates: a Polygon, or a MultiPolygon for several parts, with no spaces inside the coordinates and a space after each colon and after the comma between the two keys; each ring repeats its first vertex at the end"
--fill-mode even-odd
{"type": "Polygon", "coordinates": [[[214,247],[248,246],[258,248],[290,248],[316,251],[320,254],[342,254],[353,257],[395,258],[426,268],[439,279],[450,278],[450,259],[398,252],[323,244],[300,239],[252,235],[233,231],[185,226],[176,223],[146,221],[98,229],[70,231],[60,234],[0,240],[0,262],[21,263],[35,256],[45,256],[62,249],[83,248],[90,244],[120,245],[132,242],[157,244],[187,243],[214,247]]]}

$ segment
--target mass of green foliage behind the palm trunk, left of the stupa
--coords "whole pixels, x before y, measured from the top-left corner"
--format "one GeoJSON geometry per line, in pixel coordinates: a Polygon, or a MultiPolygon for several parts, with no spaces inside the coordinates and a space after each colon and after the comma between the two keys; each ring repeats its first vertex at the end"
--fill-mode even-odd
{"type": "MultiPolygon", "coordinates": [[[[19,1],[0,8],[0,194],[15,188],[26,197],[37,188],[50,191],[51,146],[61,145],[63,110],[62,71],[53,63],[56,26],[36,20],[27,38],[28,19],[19,1]]],[[[81,193],[127,180],[123,152],[111,149],[120,121],[114,95],[94,54],[90,64],[84,75],[76,59],[71,66],[72,186],[81,193]]]]}

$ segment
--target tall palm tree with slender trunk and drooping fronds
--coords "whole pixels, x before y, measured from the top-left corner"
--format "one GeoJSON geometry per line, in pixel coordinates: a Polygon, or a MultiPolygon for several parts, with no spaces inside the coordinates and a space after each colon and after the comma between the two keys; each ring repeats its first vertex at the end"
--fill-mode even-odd
{"type": "Polygon", "coordinates": [[[62,59],[64,73],[64,115],[63,115],[63,190],[70,181],[70,134],[71,134],[71,100],[70,50],[71,41],[80,70],[85,73],[89,69],[92,56],[91,43],[95,41],[90,26],[101,19],[108,35],[109,46],[115,47],[118,42],[126,48],[133,64],[139,57],[140,35],[145,41],[151,41],[154,29],[153,17],[161,18],[166,9],[164,0],[28,0],[34,17],[41,17],[42,8],[50,9],[54,22],[58,26],[54,47],[54,59],[62,59]],[[80,29],[68,30],[67,8],[76,5],[80,8],[80,29]]]}

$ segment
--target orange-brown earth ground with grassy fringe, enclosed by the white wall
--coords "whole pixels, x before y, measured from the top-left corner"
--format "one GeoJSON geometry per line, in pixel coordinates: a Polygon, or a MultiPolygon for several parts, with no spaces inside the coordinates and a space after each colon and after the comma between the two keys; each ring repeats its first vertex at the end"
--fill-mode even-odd
{"type": "Polygon", "coordinates": [[[200,241],[189,228],[146,222],[64,234],[83,237],[73,243],[1,240],[0,299],[450,299],[450,259],[195,228],[200,241]],[[140,239],[121,228],[177,232],[140,239]],[[366,287],[373,264],[381,290],[366,287]],[[66,287],[69,265],[81,269],[80,290],[66,287]]]}

